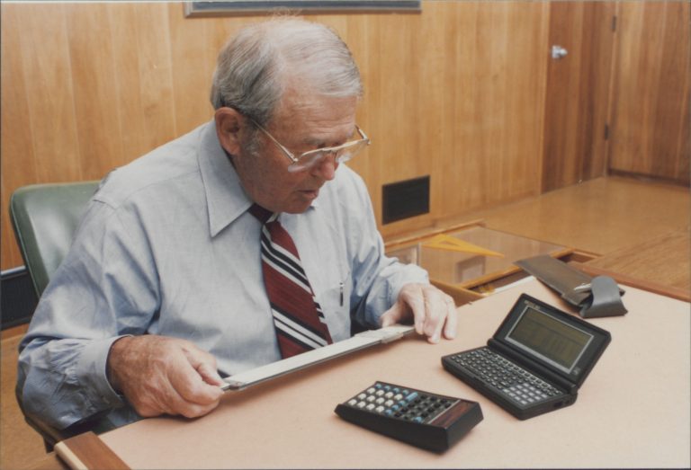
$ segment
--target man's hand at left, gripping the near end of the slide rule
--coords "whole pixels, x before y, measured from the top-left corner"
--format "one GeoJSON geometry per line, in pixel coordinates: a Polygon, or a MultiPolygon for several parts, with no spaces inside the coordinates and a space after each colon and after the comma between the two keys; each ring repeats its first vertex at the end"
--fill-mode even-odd
{"type": "Polygon", "coordinates": [[[216,359],[192,342],[165,336],[124,337],[112,343],[108,378],[141,416],[195,418],[220,402],[216,359]]]}

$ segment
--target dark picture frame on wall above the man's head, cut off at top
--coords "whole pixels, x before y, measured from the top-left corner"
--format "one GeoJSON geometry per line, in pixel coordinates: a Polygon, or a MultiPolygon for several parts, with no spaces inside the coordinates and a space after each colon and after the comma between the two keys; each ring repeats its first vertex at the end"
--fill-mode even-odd
{"type": "Polygon", "coordinates": [[[307,13],[419,13],[421,0],[229,0],[184,3],[186,18],[294,11],[307,13]]]}

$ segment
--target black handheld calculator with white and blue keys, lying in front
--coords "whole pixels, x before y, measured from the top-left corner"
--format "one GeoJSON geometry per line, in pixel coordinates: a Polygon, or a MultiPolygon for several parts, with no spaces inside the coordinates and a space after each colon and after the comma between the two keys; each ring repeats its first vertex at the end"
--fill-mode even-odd
{"type": "Polygon", "coordinates": [[[335,412],[363,428],[436,452],[482,421],[480,403],[386,382],[368,386],[335,412]]]}

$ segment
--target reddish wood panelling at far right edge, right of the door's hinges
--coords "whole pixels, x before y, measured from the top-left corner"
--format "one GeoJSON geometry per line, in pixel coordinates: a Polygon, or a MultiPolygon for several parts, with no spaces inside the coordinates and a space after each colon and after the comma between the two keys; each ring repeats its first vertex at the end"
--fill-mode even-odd
{"type": "Polygon", "coordinates": [[[618,5],[610,170],[689,182],[688,2],[618,5]]]}

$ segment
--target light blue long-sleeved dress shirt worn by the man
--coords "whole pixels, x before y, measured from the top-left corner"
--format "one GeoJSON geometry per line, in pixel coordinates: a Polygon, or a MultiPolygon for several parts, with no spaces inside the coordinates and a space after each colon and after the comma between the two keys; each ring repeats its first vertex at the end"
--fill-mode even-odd
{"type": "MultiPolygon", "coordinates": [[[[24,410],[58,428],[109,410],[110,425],[138,419],[105,375],[127,334],[193,341],[231,375],[281,359],[251,204],[213,121],[110,173],[20,345],[24,410]]],[[[384,255],[364,183],[343,164],[307,211],[280,220],[334,341],[427,282],[384,255]]]]}

